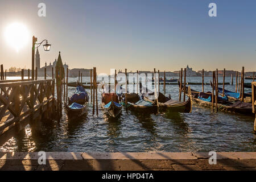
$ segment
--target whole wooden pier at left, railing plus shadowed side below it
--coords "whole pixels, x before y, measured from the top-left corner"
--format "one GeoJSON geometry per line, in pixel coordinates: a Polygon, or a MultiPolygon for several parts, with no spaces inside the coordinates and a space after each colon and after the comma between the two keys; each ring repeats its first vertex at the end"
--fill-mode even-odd
{"type": "Polygon", "coordinates": [[[0,145],[28,123],[55,112],[55,80],[0,81],[0,145]]]}

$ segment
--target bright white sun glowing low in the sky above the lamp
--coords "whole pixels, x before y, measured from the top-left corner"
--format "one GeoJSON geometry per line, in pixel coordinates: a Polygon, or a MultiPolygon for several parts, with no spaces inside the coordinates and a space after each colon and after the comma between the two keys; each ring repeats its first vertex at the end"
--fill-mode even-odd
{"type": "Polygon", "coordinates": [[[17,52],[28,43],[28,30],[22,23],[11,23],[5,29],[5,39],[17,52]]]}

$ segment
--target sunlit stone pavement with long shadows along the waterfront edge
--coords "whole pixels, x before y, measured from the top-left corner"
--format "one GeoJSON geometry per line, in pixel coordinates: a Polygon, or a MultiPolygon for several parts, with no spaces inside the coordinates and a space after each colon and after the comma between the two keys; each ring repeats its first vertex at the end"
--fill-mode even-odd
{"type": "Polygon", "coordinates": [[[46,164],[39,165],[40,156],[38,152],[0,152],[0,170],[256,171],[256,152],[217,152],[217,164],[212,165],[208,153],[200,152],[46,152],[46,164]]]}

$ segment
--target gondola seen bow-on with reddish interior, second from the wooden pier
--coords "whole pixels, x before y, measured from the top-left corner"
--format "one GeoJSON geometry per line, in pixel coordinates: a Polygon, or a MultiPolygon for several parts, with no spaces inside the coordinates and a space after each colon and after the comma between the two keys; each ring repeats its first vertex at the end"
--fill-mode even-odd
{"type": "Polygon", "coordinates": [[[102,108],[111,116],[117,117],[122,110],[122,105],[119,104],[117,94],[115,93],[102,93],[102,108]]]}

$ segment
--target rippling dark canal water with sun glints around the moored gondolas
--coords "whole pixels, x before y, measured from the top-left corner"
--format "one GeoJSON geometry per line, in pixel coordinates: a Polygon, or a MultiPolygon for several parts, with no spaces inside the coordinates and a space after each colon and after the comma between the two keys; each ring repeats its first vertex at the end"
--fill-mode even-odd
{"type": "MultiPolygon", "coordinates": [[[[11,78],[10,78],[11,79],[11,78]]],[[[13,77],[14,79],[14,77],[13,77]]],[[[211,77],[205,77],[209,82],[211,77]]],[[[69,82],[77,78],[69,78],[69,82]]],[[[88,77],[82,78],[83,82],[88,77]]],[[[187,77],[187,82],[201,82],[201,77],[187,77]]],[[[222,77],[219,77],[222,82],[222,77]]],[[[230,77],[225,78],[230,82],[230,77]]],[[[250,80],[245,80],[250,82],[250,80]]],[[[225,89],[235,90],[234,85],[225,89]]],[[[191,85],[201,91],[201,85],[191,85]]],[[[211,91],[210,85],[204,86],[211,91]]],[[[160,86],[163,90],[163,86],[160,86]]],[[[69,96],[75,88],[69,88],[69,96]]],[[[88,90],[90,93],[90,90],[88,90]]],[[[245,88],[245,92],[251,92],[245,88]]],[[[177,99],[179,87],[167,85],[166,93],[177,99]]],[[[0,151],[63,151],[63,152],[218,152],[256,151],[256,135],[252,133],[253,115],[229,114],[193,105],[192,113],[144,114],[122,110],[119,118],[113,119],[101,109],[98,95],[98,116],[92,115],[92,104],[86,114],[76,121],[68,122],[63,111],[61,121],[46,121],[36,128],[30,125],[8,140],[0,151]]]]}

